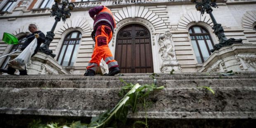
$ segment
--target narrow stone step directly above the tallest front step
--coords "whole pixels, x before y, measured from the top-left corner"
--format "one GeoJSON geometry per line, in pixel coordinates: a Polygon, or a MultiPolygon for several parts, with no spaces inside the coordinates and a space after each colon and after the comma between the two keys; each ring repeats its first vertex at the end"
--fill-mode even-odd
{"type": "MultiPolygon", "coordinates": [[[[127,83],[151,84],[153,80],[128,80],[127,83]]],[[[0,81],[0,88],[121,88],[121,81],[0,81]]],[[[165,88],[208,87],[254,87],[256,78],[251,79],[209,79],[209,80],[157,80],[157,86],[165,88]]]]}

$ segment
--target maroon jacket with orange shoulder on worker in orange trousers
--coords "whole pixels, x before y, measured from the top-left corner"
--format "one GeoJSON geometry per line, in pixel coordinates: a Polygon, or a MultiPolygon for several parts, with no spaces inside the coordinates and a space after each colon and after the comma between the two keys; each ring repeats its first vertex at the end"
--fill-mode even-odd
{"type": "Polygon", "coordinates": [[[115,21],[113,20],[112,16],[107,13],[98,14],[103,8],[104,8],[104,6],[102,5],[102,6],[98,6],[98,7],[93,7],[89,10],[90,17],[93,18],[96,15],[95,21],[93,23],[93,29],[95,30],[95,29],[97,29],[98,26],[106,25],[112,29],[112,32],[114,32],[115,21]],[[108,21],[110,21],[111,24],[109,24],[109,22],[104,21],[102,19],[107,19],[108,21]],[[99,20],[101,20],[101,21],[99,21],[99,20]]]}

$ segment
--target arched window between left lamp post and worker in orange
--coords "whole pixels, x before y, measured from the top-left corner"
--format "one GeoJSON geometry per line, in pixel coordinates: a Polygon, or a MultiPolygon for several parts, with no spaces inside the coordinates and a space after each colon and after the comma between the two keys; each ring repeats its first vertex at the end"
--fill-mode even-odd
{"type": "Polygon", "coordinates": [[[62,48],[59,52],[59,57],[57,59],[60,65],[73,66],[76,59],[80,39],[81,33],[78,31],[73,31],[65,37],[62,43],[62,48]]]}

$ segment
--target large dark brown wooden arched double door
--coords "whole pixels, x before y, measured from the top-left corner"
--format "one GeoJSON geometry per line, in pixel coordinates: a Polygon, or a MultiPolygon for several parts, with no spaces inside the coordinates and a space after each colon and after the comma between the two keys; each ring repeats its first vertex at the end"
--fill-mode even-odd
{"type": "Polygon", "coordinates": [[[117,34],[115,59],[121,73],[152,73],[151,37],[147,28],[130,24],[117,34]]]}

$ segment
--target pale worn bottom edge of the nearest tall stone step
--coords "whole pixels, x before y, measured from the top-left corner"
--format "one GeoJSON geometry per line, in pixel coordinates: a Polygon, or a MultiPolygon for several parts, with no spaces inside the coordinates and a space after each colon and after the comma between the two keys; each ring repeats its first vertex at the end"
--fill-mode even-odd
{"type": "MultiPolygon", "coordinates": [[[[41,115],[41,116],[98,116],[104,111],[58,110],[58,109],[5,109],[0,108],[0,114],[9,115],[41,115]]],[[[128,118],[145,119],[145,112],[129,111],[128,118]]],[[[256,111],[200,111],[200,112],[160,112],[147,111],[148,119],[256,119],[256,111]]]]}

